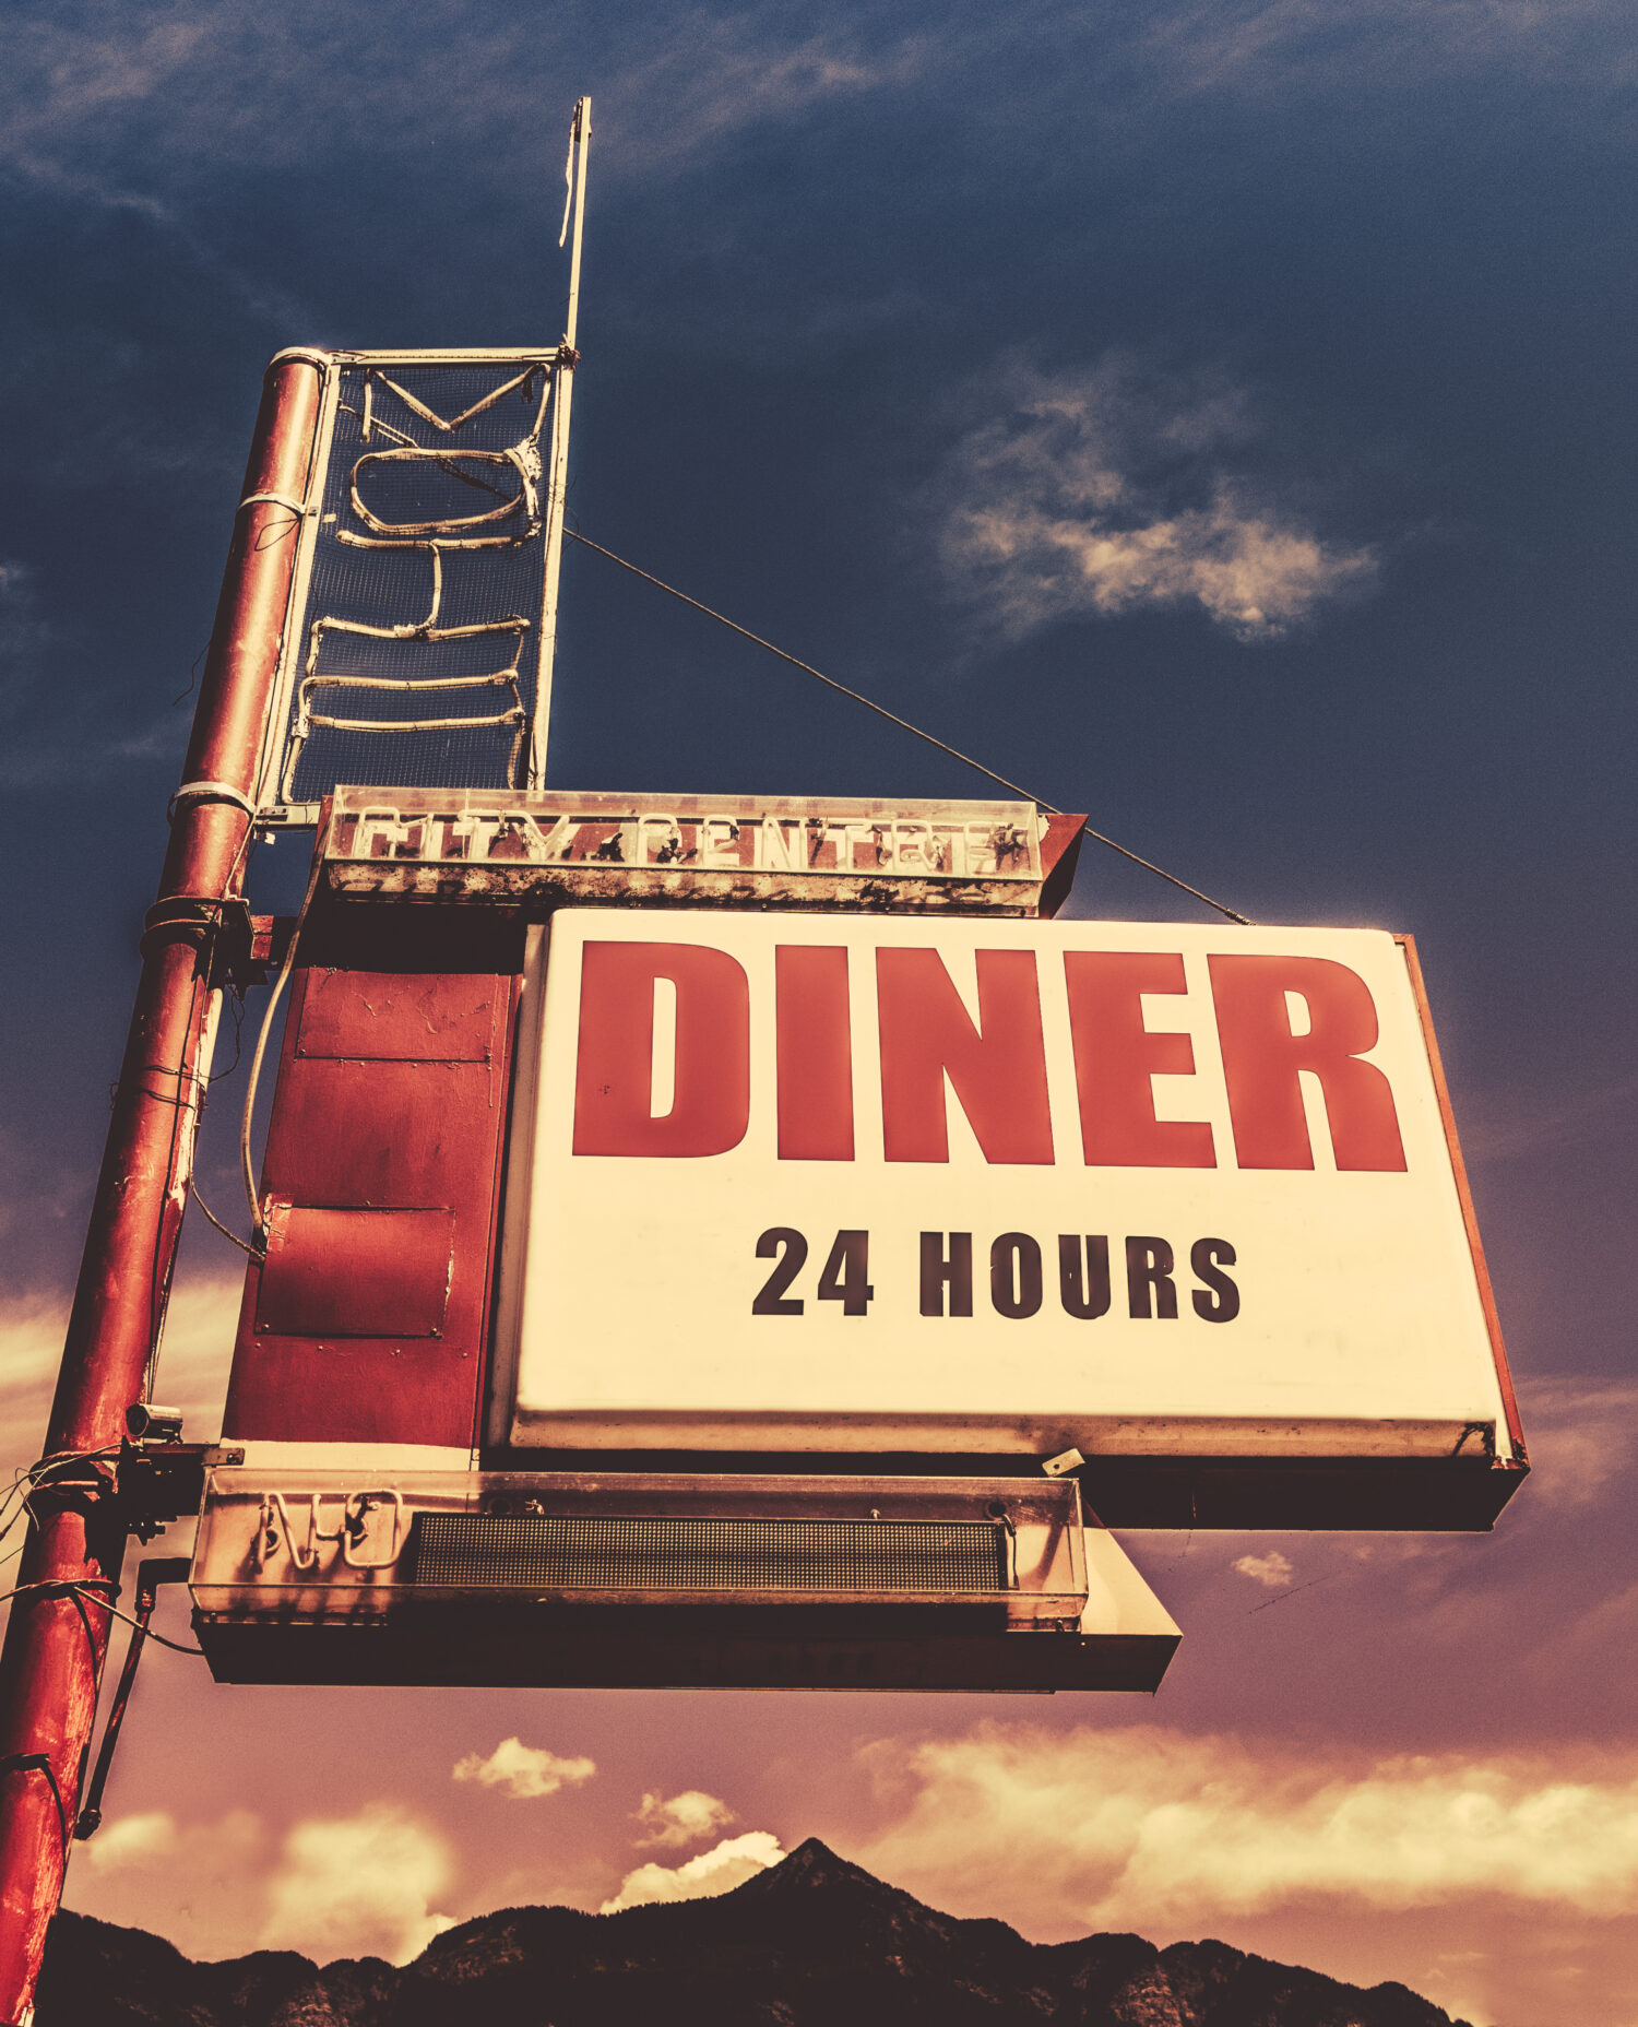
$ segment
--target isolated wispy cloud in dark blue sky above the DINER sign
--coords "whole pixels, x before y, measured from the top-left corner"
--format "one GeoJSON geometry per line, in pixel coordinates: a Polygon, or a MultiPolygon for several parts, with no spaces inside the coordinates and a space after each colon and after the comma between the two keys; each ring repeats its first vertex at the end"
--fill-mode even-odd
{"type": "Polygon", "coordinates": [[[1237,389],[1105,359],[1056,375],[1014,365],[993,391],[1001,414],[935,482],[939,557],[951,592],[1014,639],[1194,606],[1259,641],[1376,574],[1372,549],[1322,537],[1259,470],[1237,389]]]}

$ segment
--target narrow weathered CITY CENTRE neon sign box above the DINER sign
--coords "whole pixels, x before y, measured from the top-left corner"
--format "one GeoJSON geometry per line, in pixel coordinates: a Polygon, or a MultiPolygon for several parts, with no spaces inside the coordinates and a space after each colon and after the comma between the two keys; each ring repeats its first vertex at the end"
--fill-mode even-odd
{"type": "Polygon", "coordinates": [[[1081,817],[1034,803],[337,789],[332,894],[1050,914],[1081,817]]]}

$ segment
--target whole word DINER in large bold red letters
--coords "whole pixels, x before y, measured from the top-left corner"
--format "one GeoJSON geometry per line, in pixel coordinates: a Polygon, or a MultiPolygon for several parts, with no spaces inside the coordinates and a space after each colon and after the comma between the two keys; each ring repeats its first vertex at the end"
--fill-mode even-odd
{"type": "MultiPolygon", "coordinates": [[[[1301,1078],[1318,1080],[1338,1170],[1405,1172],[1370,989],[1328,957],[1208,957],[1233,1163],[1312,1170],[1301,1078]],[[1306,1009],[1293,1020],[1293,1001],[1306,1009]]],[[[1145,995],[1188,997],[1180,953],[977,953],[977,1020],[939,951],[882,947],[860,981],[835,945],[774,949],[776,1139],[783,1161],[855,1159],[851,993],[876,993],[882,1155],[949,1161],[947,1093],[987,1163],[1050,1166],[1078,1141],[1089,1168],[1216,1168],[1208,1121],[1158,1119],[1156,1076],[1192,1076],[1194,1042],[1151,1032],[1145,995]],[[1076,1115],[1054,1121],[1042,991],[1062,995],[1076,1115]]],[[[750,979],[697,943],[588,941],[580,975],[576,1155],[695,1159],[738,1147],[750,1125],[750,979]],[[655,1088],[673,1044],[669,1093],[655,1088]],[[675,1011],[673,1011],[675,1009],[675,1011]],[[657,1107],[657,1097],[665,1103],[657,1107]]]]}

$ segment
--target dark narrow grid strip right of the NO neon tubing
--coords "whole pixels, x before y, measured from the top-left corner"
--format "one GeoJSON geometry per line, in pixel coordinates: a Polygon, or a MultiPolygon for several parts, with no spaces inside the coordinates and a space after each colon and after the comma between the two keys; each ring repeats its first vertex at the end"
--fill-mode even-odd
{"type": "Polygon", "coordinates": [[[987,1520],[418,1514],[416,1583],[553,1591],[947,1591],[1006,1585],[987,1520]]]}

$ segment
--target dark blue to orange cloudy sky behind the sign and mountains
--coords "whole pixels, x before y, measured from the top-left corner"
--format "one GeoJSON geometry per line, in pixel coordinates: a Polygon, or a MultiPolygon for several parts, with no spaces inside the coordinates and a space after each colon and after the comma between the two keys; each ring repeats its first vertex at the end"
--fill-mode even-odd
{"type": "MultiPolygon", "coordinates": [[[[154,1652],[67,1903],[403,1960],[817,1834],[1038,1940],[1638,2021],[1632,10],[14,0],[0,51],[4,1457],[262,367],[555,341],[588,91],[572,521],[1255,920],[1413,930],[1535,1461],[1492,1536],[1127,1534],[1184,1628],[1153,1699],[257,1691],[154,1652]]],[[[987,793],[574,545],[564,600],[555,784],[987,793]]],[[[270,847],[257,902],[302,876],[270,847]]],[[[1196,912],[1091,843],[1070,906],[1196,912]]],[[[189,1220],[191,1435],[235,1261],[189,1220]]]]}

